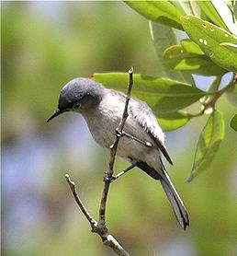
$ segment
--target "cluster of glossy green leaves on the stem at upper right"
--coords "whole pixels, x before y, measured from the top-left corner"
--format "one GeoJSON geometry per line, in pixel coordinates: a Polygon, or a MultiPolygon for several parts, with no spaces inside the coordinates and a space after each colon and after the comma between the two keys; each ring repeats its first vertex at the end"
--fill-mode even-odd
{"type": "MultiPolygon", "coordinates": [[[[236,104],[236,6],[225,1],[125,1],[149,21],[161,66],[158,76],[134,75],[133,96],[146,101],[165,131],[178,129],[193,118],[209,114],[199,135],[189,181],[207,169],[224,137],[223,114],[216,102],[223,93],[236,104]],[[178,30],[186,39],[177,40],[178,30]],[[232,74],[220,89],[222,76],[232,74]],[[215,76],[206,89],[197,88],[193,75],[215,76]],[[187,111],[198,102],[199,110],[187,111]]],[[[94,74],[106,87],[125,90],[126,73],[94,74]]],[[[237,130],[236,115],[231,128],[237,130]]]]}

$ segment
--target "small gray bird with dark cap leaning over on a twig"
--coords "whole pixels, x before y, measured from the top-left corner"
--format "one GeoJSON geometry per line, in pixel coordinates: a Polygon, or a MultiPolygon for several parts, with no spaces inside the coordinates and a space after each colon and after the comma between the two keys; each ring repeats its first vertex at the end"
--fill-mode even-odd
{"type": "MultiPolygon", "coordinates": [[[[58,108],[47,122],[66,111],[80,113],[84,116],[96,142],[109,148],[114,141],[125,100],[126,95],[122,92],[107,89],[91,79],[75,78],[62,87],[58,108]]],[[[128,159],[154,180],[161,181],[178,222],[186,229],[189,225],[186,208],[175,191],[161,158],[163,154],[167,161],[173,164],[164,145],[164,133],[145,102],[130,99],[129,117],[124,132],[147,145],[128,136],[122,136],[117,154],[128,159]]]]}

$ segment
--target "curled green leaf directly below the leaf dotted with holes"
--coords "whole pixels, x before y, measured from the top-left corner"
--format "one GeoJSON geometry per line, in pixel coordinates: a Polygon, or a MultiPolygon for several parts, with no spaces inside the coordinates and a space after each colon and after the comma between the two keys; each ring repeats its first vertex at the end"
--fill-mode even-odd
{"type": "Polygon", "coordinates": [[[180,45],[165,50],[164,65],[167,68],[186,70],[202,76],[220,76],[226,73],[225,69],[211,62],[206,55],[184,52],[180,45]]]}

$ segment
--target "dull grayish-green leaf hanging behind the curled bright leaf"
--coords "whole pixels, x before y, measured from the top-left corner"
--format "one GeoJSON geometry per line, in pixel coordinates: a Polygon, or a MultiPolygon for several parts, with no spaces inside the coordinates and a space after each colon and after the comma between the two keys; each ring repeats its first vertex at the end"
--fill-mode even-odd
{"type": "Polygon", "coordinates": [[[158,57],[158,63],[160,64],[157,71],[157,76],[164,76],[193,85],[194,81],[190,74],[164,68],[164,50],[167,47],[177,43],[174,29],[152,21],[149,22],[149,26],[156,55],[158,57]]]}

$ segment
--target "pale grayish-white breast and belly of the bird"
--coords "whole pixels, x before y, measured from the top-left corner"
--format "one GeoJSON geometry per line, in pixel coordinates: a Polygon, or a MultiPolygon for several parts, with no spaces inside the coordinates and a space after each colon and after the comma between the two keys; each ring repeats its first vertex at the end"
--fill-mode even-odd
{"type": "MultiPolygon", "coordinates": [[[[117,98],[109,97],[100,103],[98,110],[84,115],[89,130],[99,145],[107,148],[112,145],[115,139],[115,130],[119,126],[124,109],[123,106],[121,108],[120,104],[124,106],[124,103],[120,102],[117,98]]],[[[131,116],[129,116],[127,119],[124,131],[138,137],[142,141],[151,142],[154,145],[152,138],[131,116]]],[[[154,149],[152,148],[152,150],[154,149]]],[[[133,159],[146,161],[148,151],[151,151],[151,148],[141,145],[141,143],[138,143],[128,137],[122,137],[119,140],[117,154],[120,157],[130,157],[133,159]]],[[[155,152],[155,155],[158,156],[159,151],[155,149],[155,152]]]]}

